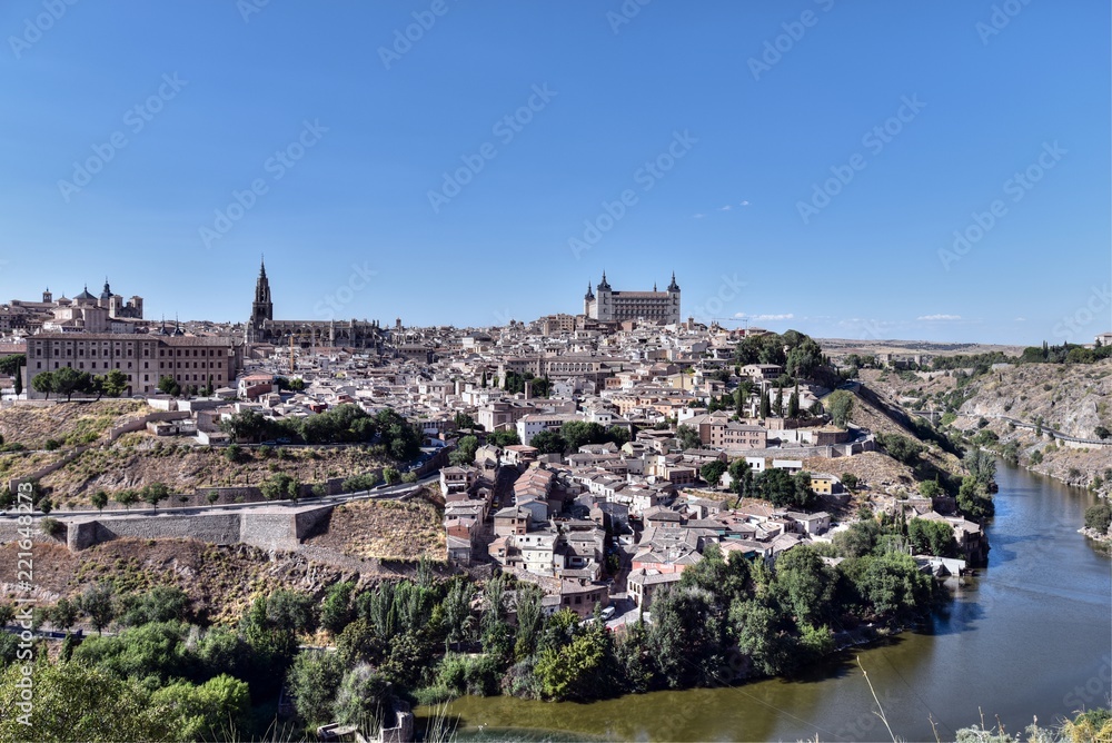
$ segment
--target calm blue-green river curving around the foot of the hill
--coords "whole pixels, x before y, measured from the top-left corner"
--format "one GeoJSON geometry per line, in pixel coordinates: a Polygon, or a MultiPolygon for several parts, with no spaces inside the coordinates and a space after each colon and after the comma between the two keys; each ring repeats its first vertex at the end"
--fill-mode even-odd
{"type": "MultiPolygon", "coordinates": [[[[592,704],[464,697],[460,740],[942,740],[996,717],[1019,731],[1112,693],[1112,568],[1076,529],[1094,497],[1007,467],[996,475],[989,566],[942,615],[882,645],[846,651],[795,681],[654,692],[592,704]]],[[[426,711],[419,710],[418,714],[426,711]]]]}

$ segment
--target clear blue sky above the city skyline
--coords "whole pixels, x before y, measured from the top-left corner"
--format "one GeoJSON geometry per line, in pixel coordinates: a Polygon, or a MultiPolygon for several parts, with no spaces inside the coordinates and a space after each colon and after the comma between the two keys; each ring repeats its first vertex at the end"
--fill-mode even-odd
{"type": "Polygon", "coordinates": [[[0,298],[107,274],[148,317],[241,320],[265,252],[282,319],[488,326],[675,270],[684,315],[729,325],[1091,341],[1109,16],[11,0],[0,298]]]}

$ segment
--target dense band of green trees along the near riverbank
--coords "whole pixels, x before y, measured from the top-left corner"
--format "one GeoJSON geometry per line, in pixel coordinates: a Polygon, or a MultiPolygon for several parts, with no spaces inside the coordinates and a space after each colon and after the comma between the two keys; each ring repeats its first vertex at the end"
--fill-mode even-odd
{"type": "MultiPolygon", "coordinates": [[[[209,625],[177,588],[123,593],[101,582],[42,611],[39,621],[57,628],[83,615],[98,631],[120,632],[71,636],[57,660],[40,648],[32,720],[43,740],[251,739],[265,734],[270,717],[260,713],[285,682],[300,736],[328,722],[374,731],[390,722],[398,699],[590,701],[793,674],[833,652],[842,631],[930,610],[935,584],[902,552],[904,539],[872,522],[824,547],[844,557],[836,566],[806,545],[770,567],[709,544],[654,595],[653,622],[622,635],[606,630],[598,607],[587,621],[570,610],[550,614],[534,584],[445,581],[428,563],[413,579],[335,583],[319,600],[258,595],[234,626],[209,625]],[[335,652],[299,647],[320,631],[335,652]]],[[[0,640],[6,710],[19,697],[14,646],[0,640]]],[[[0,720],[0,739],[14,725],[0,720]]]]}

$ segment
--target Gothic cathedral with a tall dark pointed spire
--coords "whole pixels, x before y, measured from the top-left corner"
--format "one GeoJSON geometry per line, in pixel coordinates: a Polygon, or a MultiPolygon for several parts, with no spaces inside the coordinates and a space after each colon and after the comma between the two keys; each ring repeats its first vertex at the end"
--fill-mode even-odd
{"type": "Polygon", "coordinates": [[[251,344],[285,346],[292,343],[299,348],[345,347],[368,348],[381,353],[389,333],[377,320],[275,320],[270,299],[270,279],[267,267],[259,265],[255,283],[251,318],[247,323],[246,340],[251,344]]]}

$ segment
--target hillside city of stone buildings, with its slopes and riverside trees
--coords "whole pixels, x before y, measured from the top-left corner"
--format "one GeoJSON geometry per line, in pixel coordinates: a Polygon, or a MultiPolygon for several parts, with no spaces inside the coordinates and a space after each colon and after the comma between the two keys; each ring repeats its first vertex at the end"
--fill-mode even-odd
{"type": "MultiPolygon", "coordinates": [[[[21,600],[64,652],[109,652],[73,650],[75,625],[230,623],[270,658],[236,683],[321,740],[366,737],[336,687],[366,663],[387,684],[380,740],[413,740],[413,701],[778,675],[922,617],[986,564],[996,455],[1079,472],[1039,442],[1048,419],[990,412],[971,383],[1112,348],[824,346],[684,317],[675,274],[626,290],[604,273],[582,313],[488,328],[276,318],[270,281],[260,264],[242,323],[147,318],[107,279],[0,307],[0,506],[36,518],[0,518],[0,544],[77,558],[21,600]],[[375,602],[408,618],[379,624],[375,602]],[[703,636],[715,622],[728,631],[703,636]],[[310,640],[342,666],[295,662],[310,640]],[[319,674],[332,685],[310,691],[319,674]]],[[[1046,430],[1081,452],[1109,436],[1046,430]]]]}

